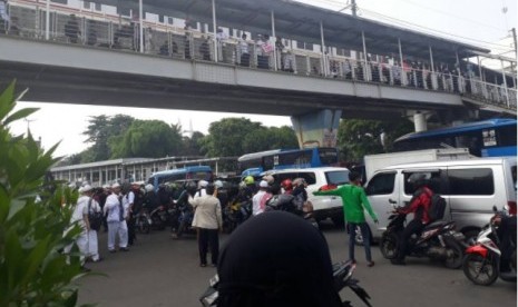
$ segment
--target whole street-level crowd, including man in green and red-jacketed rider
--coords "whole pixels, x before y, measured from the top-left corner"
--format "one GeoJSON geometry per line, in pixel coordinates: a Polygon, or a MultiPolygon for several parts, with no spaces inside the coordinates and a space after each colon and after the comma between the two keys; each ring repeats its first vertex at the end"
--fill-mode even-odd
{"type": "MultiPolygon", "coordinates": [[[[374,222],[378,222],[378,217],[361,186],[361,175],[351,171],[349,176],[349,184],[328,190],[319,189],[313,195],[341,197],[349,232],[349,258],[356,263],[354,238],[356,231],[361,231],[366,266],[373,267],[364,212],[374,222]]],[[[429,182],[420,174],[410,177],[409,182],[413,185],[416,192],[408,206],[398,210],[405,215],[413,212],[414,219],[401,234],[398,241],[399,252],[392,259],[393,265],[405,264],[409,238],[432,221],[428,214],[433,195],[429,182]]],[[[98,250],[97,231],[104,228],[108,232],[109,252],[128,251],[137,240],[138,217],[143,214],[149,217],[162,210],[166,218],[162,220],[159,229],[169,227],[174,239],[180,239],[187,231],[196,234],[199,266],[208,265],[207,255],[211,254],[209,264],[216,267],[221,255],[219,232],[223,230],[231,232],[246,220],[268,211],[286,211],[302,220],[311,217],[312,205],[306,188],[307,184],[303,178],[278,181],[270,175],[260,180],[247,176],[238,185],[222,180],[187,180],[160,184],[157,189],[153,185],[144,186],[139,182],[114,184],[102,188],[84,185],[79,188],[80,197],[74,207],[71,222],[78,222],[82,229],[77,238],[81,259],[97,263],[102,260],[98,250]],[[95,212],[101,212],[100,222],[91,220],[95,212]],[[229,224],[233,227],[228,227],[229,224]]],[[[159,224],[160,220],[156,222],[159,224]]],[[[70,248],[66,251],[70,251],[70,248]]]]}

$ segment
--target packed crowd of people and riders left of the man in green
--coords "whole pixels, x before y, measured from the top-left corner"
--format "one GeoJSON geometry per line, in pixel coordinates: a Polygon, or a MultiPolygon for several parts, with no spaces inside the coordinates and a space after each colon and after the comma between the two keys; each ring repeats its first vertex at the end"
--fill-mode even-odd
{"type": "MultiPolygon", "coordinates": [[[[196,234],[199,265],[207,266],[211,250],[211,265],[216,266],[221,231],[225,229],[229,232],[246,219],[268,210],[303,216],[304,210],[307,211],[305,185],[302,178],[294,182],[290,179],[275,182],[272,176],[258,182],[253,177],[246,177],[238,185],[222,180],[160,184],[157,189],[140,182],[116,182],[99,188],[85,182],[78,188],[80,197],[72,207],[71,225],[78,224],[81,228],[76,244],[82,261],[102,260],[98,249],[98,231],[107,232],[109,252],[129,251],[137,241],[137,219],[145,215],[152,219],[152,224],[162,222],[158,229],[169,227],[174,239],[180,239],[188,231],[196,234]],[[154,219],[157,211],[164,212],[164,220],[159,217],[158,220],[154,219]],[[99,221],[92,220],[98,216],[99,221]]],[[[70,187],[76,188],[75,185],[70,187]]]]}

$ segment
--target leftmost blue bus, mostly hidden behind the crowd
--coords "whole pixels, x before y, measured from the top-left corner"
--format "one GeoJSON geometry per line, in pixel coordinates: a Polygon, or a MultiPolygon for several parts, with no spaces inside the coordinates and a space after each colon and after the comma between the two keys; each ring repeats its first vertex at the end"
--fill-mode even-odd
{"type": "Polygon", "coordinates": [[[189,166],[155,172],[147,182],[152,184],[156,190],[160,184],[177,180],[211,180],[212,176],[213,171],[209,166],[189,166]]]}

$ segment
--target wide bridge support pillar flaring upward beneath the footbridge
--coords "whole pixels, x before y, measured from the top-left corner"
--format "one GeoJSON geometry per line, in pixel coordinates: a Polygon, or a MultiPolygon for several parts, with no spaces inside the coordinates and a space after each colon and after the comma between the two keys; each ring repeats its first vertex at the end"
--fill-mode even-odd
{"type": "Polygon", "coordinates": [[[299,146],[305,147],[336,147],[342,110],[324,109],[319,112],[292,116],[299,146]]]}

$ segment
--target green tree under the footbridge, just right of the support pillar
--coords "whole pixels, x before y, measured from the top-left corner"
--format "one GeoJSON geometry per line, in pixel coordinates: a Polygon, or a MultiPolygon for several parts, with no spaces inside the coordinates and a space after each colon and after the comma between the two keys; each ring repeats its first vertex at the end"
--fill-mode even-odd
{"type": "Polygon", "coordinates": [[[390,151],[393,140],[412,129],[409,120],[342,120],[338,133],[341,158],[345,161],[361,161],[365,155],[390,151]],[[382,135],[384,145],[381,142],[382,135]]]}

